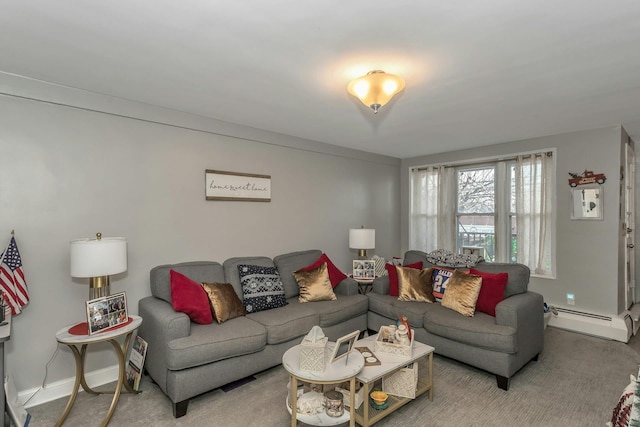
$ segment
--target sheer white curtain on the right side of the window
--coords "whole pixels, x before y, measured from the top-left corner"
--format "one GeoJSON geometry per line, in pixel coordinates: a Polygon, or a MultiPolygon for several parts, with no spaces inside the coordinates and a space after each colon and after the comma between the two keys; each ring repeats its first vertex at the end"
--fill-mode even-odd
{"type": "Polygon", "coordinates": [[[516,175],[517,261],[552,276],[554,171],[551,153],[518,156],[516,175]]]}

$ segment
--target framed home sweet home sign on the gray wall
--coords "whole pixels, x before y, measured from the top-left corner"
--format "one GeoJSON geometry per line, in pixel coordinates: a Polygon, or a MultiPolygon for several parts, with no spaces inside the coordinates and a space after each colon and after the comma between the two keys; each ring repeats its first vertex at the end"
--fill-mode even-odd
{"type": "Polygon", "coordinates": [[[205,196],[207,200],[270,202],[271,176],[207,169],[205,196]]]}

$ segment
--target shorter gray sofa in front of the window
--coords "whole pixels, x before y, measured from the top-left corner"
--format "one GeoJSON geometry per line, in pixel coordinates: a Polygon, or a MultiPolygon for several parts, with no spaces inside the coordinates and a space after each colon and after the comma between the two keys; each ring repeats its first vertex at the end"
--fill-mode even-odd
{"type": "MultiPolygon", "coordinates": [[[[418,261],[423,268],[433,266],[424,252],[405,254],[405,264],[418,261]]],[[[367,295],[368,328],[378,331],[404,315],[417,341],[433,346],[436,354],[495,374],[498,387],[508,390],[510,378],[530,360],[537,360],[542,351],[542,295],[527,290],[530,272],[525,265],[481,262],[474,268],[509,274],[505,299],[497,305],[496,317],[481,312],[466,317],[438,303],[398,301],[389,296],[389,278],[383,276],[374,281],[367,295]]]]}

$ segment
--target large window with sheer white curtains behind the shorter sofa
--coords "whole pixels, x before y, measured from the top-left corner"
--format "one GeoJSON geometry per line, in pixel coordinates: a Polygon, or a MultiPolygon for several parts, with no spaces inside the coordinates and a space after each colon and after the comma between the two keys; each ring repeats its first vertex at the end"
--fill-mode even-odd
{"type": "Polygon", "coordinates": [[[410,247],[463,248],[553,276],[553,153],[411,171],[410,247]]]}

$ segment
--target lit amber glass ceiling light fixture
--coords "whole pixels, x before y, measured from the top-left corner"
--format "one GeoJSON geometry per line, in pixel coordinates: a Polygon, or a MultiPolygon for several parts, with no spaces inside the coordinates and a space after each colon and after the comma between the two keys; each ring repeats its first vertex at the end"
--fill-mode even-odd
{"type": "Polygon", "coordinates": [[[366,76],[352,80],[347,86],[349,93],[358,98],[364,105],[378,113],[398,92],[404,89],[402,77],[384,71],[369,71],[366,76]]]}

